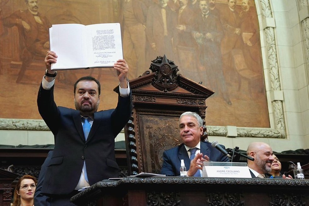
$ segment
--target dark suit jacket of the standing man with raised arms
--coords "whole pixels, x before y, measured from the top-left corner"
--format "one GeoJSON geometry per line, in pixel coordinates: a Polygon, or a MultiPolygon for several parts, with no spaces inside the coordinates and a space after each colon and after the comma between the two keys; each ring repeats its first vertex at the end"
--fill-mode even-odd
{"type": "Polygon", "coordinates": [[[131,116],[132,95],[119,95],[116,109],[95,112],[85,141],[80,112],[57,107],[53,89],[45,90],[41,85],[37,98],[39,112],[55,138],[55,148],[48,164],[42,193],[52,196],[73,192],[79,182],[84,161],[90,185],[118,177],[115,137],[131,116]]]}

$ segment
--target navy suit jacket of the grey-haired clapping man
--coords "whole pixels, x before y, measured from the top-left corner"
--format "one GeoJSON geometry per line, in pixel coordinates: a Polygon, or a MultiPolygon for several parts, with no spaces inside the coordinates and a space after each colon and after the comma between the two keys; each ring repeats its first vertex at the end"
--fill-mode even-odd
{"type": "MultiPolygon", "coordinates": [[[[221,147],[225,148],[223,145],[221,147]]],[[[213,162],[229,162],[230,160],[209,142],[201,142],[201,153],[207,155],[213,162]]],[[[166,176],[180,175],[180,160],[183,159],[187,170],[190,168],[190,158],[184,144],[171,148],[163,153],[163,164],[160,174],[166,176]]]]}

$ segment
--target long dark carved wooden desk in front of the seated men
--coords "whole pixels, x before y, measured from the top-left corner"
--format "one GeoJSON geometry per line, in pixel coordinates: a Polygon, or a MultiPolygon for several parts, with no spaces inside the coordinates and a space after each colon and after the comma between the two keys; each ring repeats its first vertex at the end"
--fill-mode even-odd
{"type": "Polygon", "coordinates": [[[73,196],[77,205],[309,205],[309,180],[126,177],[73,196]]]}

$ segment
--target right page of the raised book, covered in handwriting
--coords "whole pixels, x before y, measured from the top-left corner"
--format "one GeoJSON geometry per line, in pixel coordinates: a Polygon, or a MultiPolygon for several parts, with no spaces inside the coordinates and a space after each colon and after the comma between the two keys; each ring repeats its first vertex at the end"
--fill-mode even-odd
{"type": "Polygon", "coordinates": [[[119,23],[87,25],[88,67],[113,67],[123,59],[119,23]]]}

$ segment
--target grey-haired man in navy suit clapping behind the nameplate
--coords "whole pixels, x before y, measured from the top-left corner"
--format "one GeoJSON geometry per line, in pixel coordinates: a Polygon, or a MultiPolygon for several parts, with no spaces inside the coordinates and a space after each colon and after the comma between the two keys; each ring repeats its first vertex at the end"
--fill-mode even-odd
{"type": "Polygon", "coordinates": [[[160,174],[179,176],[181,159],[187,168],[187,176],[195,175],[201,169],[203,161],[229,162],[229,159],[209,142],[201,142],[203,134],[203,120],[194,112],[185,112],[179,119],[180,137],[182,144],[163,153],[163,164],[160,174]],[[196,149],[197,148],[197,149],[196,149]],[[196,150],[195,157],[190,162],[191,149],[196,150]],[[203,155],[204,154],[204,155],[203,155]],[[189,170],[188,170],[189,169],[189,170]]]}

